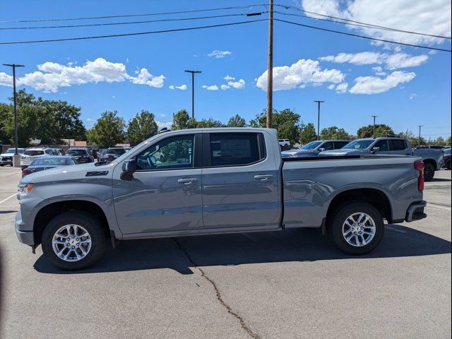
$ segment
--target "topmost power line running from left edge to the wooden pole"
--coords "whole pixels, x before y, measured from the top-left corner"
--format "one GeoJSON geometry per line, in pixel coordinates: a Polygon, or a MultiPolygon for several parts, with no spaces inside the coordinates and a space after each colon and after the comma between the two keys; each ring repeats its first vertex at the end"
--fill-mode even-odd
{"type": "Polygon", "coordinates": [[[111,19],[111,18],[131,18],[138,16],[168,16],[172,14],[183,13],[198,13],[198,12],[210,12],[210,11],[223,11],[228,9],[246,9],[256,6],[263,6],[263,4],[244,5],[244,6],[230,6],[222,8],[204,8],[191,11],[175,11],[175,12],[162,12],[162,13],[145,13],[145,14],[122,14],[117,16],[88,16],[83,18],[44,18],[44,19],[32,19],[32,20],[5,20],[0,23],[41,23],[44,21],[73,21],[73,20],[94,20],[94,19],[111,19]]]}

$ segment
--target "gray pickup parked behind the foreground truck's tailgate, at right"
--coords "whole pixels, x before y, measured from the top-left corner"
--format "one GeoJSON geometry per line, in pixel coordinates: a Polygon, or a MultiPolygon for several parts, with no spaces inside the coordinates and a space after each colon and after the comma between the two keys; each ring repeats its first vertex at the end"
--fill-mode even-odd
{"type": "Polygon", "coordinates": [[[407,138],[364,138],[351,141],[340,150],[324,150],[319,155],[415,155],[424,162],[424,180],[432,181],[435,171],[444,165],[443,150],[433,148],[412,149],[407,138]]]}

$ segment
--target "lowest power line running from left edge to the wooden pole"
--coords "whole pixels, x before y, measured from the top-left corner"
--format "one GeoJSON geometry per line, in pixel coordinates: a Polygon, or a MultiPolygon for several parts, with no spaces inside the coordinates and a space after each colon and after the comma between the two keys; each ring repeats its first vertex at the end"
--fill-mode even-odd
{"type": "Polygon", "coordinates": [[[189,27],[189,28],[175,28],[172,30],[152,30],[152,31],[148,31],[148,32],[112,34],[112,35],[94,35],[94,36],[90,36],[90,37],[65,37],[65,38],[61,38],[61,39],[49,39],[49,40],[6,41],[6,42],[0,42],[0,44],[34,44],[34,43],[39,43],[39,42],[58,42],[58,41],[71,41],[71,40],[102,39],[102,38],[106,38],[106,37],[130,37],[130,36],[134,36],[134,35],[147,35],[147,34],[157,34],[157,33],[167,33],[167,32],[181,32],[184,30],[202,30],[205,28],[243,25],[245,23],[257,23],[259,21],[266,21],[266,20],[267,19],[247,20],[247,21],[241,21],[241,22],[237,22],[237,23],[220,23],[218,25],[206,25],[206,26],[197,26],[197,27],[189,27]]]}

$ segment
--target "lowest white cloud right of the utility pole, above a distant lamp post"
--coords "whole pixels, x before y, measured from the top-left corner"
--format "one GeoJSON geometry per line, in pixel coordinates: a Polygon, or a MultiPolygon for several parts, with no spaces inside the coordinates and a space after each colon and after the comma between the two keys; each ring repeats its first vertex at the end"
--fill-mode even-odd
{"type": "Polygon", "coordinates": [[[386,78],[376,76],[359,76],[355,79],[355,85],[350,88],[352,94],[376,94],[383,93],[391,88],[396,87],[400,83],[408,83],[415,78],[416,73],[393,71],[386,78]]]}

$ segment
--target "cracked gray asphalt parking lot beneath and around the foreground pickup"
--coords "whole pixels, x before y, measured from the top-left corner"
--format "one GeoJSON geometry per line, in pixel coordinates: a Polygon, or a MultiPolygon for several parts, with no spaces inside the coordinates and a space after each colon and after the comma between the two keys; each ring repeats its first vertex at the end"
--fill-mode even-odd
{"type": "Polygon", "coordinates": [[[450,338],[451,171],[367,256],[319,230],[121,242],[66,273],[20,244],[0,167],[1,338],[450,338]]]}

